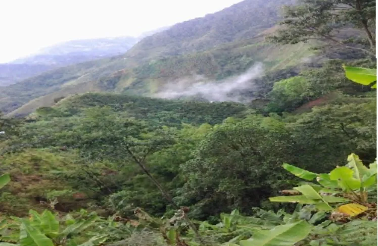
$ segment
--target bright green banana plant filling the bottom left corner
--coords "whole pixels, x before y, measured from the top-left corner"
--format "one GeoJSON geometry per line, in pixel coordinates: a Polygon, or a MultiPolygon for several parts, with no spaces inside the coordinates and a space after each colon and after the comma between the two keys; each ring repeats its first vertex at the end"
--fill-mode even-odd
{"type": "MultiPolygon", "coordinates": [[[[107,238],[96,235],[83,243],[77,243],[75,236],[93,226],[99,219],[96,214],[92,214],[83,221],[76,221],[69,214],[60,223],[56,216],[49,210],[44,210],[38,214],[34,210],[29,211],[29,219],[12,217],[14,223],[9,227],[13,230],[4,230],[0,236],[0,246],[20,245],[20,246],[96,246],[103,243],[107,238]],[[15,225],[19,230],[14,232],[15,225]]],[[[8,227],[8,229],[9,229],[8,227]]]]}

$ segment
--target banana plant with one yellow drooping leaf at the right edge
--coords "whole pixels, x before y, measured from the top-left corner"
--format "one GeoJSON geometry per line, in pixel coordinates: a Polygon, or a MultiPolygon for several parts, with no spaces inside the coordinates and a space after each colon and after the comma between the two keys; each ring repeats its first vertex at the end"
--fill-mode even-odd
{"type": "Polygon", "coordinates": [[[269,198],[271,202],[313,204],[317,210],[332,211],[355,216],[368,210],[368,194],[376,189],[376,161],[367,168],[355,154],[348,156],[348,163],[336,167],[330,173],[313,173],[284,163],[283,168],[307,181],[316,180],[318,184],[305,182],[294,190],[286,191],[294,196],[269,198]]]}

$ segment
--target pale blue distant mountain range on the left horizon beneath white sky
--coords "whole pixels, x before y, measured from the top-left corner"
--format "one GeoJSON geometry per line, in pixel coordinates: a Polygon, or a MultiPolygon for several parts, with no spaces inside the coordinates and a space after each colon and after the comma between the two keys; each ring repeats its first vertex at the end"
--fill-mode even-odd
{"type": "Polygon", "coordinates": [[[0,86],[14,84],[52,69],[124,54],[139,40],[167,28],[149,31],[138,37],[72,40],[43,48],[36,54],[0,64],[0,86]]]}

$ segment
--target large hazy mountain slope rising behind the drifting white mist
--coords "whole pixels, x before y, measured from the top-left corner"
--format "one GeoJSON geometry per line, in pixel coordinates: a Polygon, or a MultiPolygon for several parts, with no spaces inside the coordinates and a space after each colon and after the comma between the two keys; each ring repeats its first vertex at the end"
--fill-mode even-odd
{"type": "Polygon", "coordinates": [[[88,91],[151,96],[169,85],[191,86],[194,77],[216,84],[257,63],[265,73],[295,67],[312,55],[308,44],[264,42],[276,29],[281,6],[293,2],[245,0],[145,37],[123,55],[51,70],[0,88],[0,110],[23,115],[53,105],[54,98],[88,91]]]}

